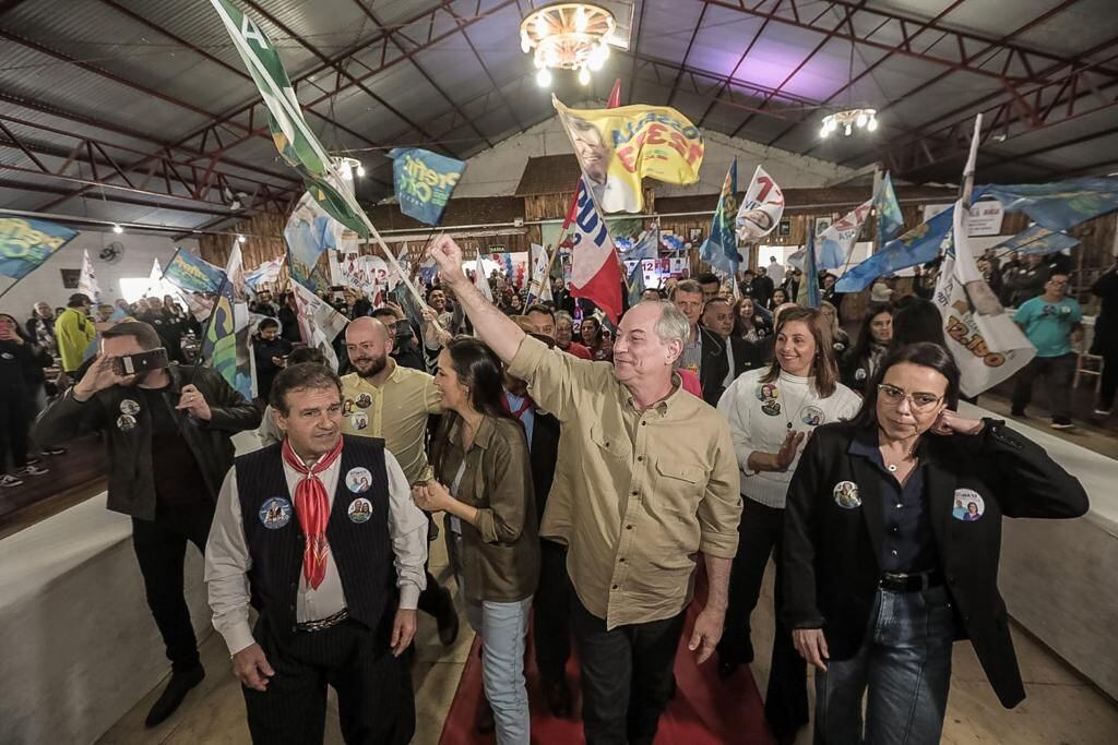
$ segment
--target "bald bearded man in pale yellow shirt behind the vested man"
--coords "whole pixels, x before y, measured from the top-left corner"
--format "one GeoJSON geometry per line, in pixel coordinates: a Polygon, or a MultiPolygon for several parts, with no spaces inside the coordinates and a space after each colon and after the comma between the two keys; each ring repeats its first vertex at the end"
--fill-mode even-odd
{"type": "MultiPolygon", "coordinates": [[[[427,417],[443,412],[435,379],[396,364],[394,334],[377,318],[354,318],[345,327],[345,350],[354,372],[342,376],[342,431],[379,437],[404,469],[408,484],[432,477],[424,439],[427,417]]],[[[419,610],[438,622],[438,638],[454,643],[458,614],[451,593],[427,573],[419,610]]]]}

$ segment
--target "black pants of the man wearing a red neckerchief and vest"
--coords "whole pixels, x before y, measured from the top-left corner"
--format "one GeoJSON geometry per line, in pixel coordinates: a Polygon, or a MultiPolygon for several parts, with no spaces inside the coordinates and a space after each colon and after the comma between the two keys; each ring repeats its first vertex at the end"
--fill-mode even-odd
{"type": "Polygon", "coordinates": [[[241,686],[254,743],[315,745],[326,726],[326,686],[338,693],[342,737],[349,745],[405,745],[415,734],[410,652],[392,657],[395,612],[380,628],[353,620],[323,631],[277,637],[265,618],[253,636],[275,670],[267,690],[241,686]]]}

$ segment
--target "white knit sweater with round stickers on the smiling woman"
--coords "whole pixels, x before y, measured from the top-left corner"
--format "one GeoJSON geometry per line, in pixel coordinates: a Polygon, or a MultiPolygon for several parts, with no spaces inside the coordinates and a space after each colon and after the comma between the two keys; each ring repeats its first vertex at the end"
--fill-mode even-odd
{"type": "Polygon", "coordinates": [[[767,373],[768,367],[741,373],[726,389],[718,410],[730,422],[742,496],[767,507],[784,509],[788,484],[799,465],[803,446],[785,471],[750,470],[750,453],[755,450],[778,452],[788,434],[789,422],[794,430],[811,432],[818,424],[851,419],[862,405],[862,399],[842,383],[836,383],[835,392],[827,398],[819,398],[811,378],[797,378],[783,371],[771,383],[761,383],[767,373]],[[779,410],[775,403],[779,404],[779,410]]]}

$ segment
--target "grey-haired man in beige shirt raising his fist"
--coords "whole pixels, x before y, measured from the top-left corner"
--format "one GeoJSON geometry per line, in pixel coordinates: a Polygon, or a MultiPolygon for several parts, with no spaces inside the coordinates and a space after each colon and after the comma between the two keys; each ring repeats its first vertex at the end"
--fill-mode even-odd
{"type": "Polygon", "coordinates": [[[689,648],[703,662],[722,634],[741,514],[729,426],[672,373],[690,323],[669,303],[641,303],[622,318],[613,365],[577,360],[487,302],[452,239],[436,239],[432,255],[477,335],[562,422],[540,534],[568,546],[586,741],[651,744],[697,554],[710,589],[689,648]]]}

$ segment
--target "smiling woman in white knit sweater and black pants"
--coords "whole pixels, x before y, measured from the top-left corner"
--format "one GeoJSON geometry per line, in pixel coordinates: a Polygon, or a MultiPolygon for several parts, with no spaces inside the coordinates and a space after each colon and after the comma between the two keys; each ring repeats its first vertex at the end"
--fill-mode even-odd
{"type": "Polygon", "coordinates": [[[804,440],[825,422],[852,418],[861,399],[839,382],[831,325],[818,311],[789,308],[777,321],[771,366],[735,380],[718,402],[730,422],[745,509],[730,574],[719,674],[754,659],[749,614],[757,605],[769,555],[776,551],[776,637],[765,715],[778,742],[807,724],[807,670],[779,620],[784,504],[804,440]]]}

